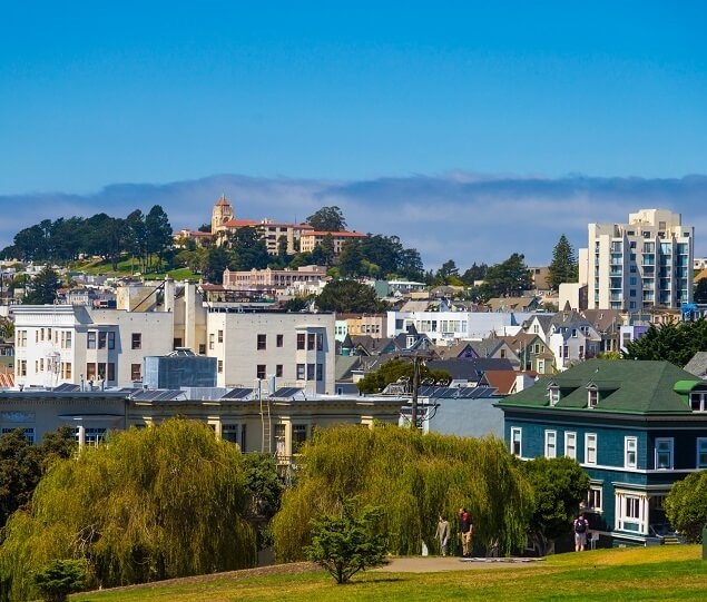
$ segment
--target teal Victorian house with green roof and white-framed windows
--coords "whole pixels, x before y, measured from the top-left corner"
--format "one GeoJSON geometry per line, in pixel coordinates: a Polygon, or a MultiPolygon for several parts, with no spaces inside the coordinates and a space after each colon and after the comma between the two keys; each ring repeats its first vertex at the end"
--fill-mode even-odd
{"type": "Polygon", "coordinates": [[[589,474],[599,545],[662,543],[670,485],[707,468],[707,381],[668,362],[590,359],[497,405],[512,454],[566,455],[589,474]]]}

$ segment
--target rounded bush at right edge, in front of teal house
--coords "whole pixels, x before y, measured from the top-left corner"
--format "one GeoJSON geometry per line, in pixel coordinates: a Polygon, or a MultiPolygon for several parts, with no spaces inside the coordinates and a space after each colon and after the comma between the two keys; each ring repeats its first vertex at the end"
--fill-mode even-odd
{"type": "Polygon", "coordinates": [[[688,542],[700,543],[703,529],[707,525],[707,471],[674,483],[666,496],[665,510],[672,529],[688,542]]]}

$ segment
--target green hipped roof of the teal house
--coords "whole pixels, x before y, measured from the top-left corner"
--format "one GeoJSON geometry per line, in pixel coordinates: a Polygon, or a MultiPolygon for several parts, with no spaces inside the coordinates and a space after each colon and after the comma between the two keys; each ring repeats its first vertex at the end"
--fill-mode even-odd
{"type": "Polygon", "coordinates": [[[560,389],[558,409],[588,409],[589,389],[596,386],[596,411],[630,414],[691,414],[689,392],[707,389],[707,382],[669,362],[589,359],[567,372],[499,402],[500,407],[549,407],[548,386],[560,389]]]}

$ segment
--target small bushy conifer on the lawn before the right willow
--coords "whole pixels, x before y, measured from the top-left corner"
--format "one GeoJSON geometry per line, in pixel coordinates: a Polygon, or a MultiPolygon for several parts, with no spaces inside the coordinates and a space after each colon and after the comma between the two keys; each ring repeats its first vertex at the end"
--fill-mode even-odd
{"type": "Polygon", "coordinates": [[[382,515],[374,506],[356,512],[355,501],[346,500],[338,515],[313,519],[307,559],[321,564],[340,584],[359,571],[380,566],[385,560],[385,541],[376,532],[382,515]]]}

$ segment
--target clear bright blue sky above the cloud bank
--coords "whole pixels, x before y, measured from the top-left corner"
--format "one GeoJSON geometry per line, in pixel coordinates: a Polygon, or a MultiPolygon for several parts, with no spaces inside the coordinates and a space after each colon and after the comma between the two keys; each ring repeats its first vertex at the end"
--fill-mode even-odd
{"type": "Polygon", "coordinates": [[[699,1],[4,2],[0,203],[218,174],[704,174],[706,26],[699,1]]]}

